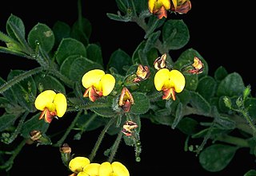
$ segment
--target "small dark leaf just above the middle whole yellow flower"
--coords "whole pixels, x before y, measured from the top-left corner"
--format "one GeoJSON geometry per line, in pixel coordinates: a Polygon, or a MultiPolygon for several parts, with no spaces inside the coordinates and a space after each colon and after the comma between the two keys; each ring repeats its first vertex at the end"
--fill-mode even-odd
{"type": "Polygon", "coordinates": [[[102,49],[99,45],[89,44],[86,47],[87,58],[90,61],[97,62],[99,65],[103,65],[102,49]]]}

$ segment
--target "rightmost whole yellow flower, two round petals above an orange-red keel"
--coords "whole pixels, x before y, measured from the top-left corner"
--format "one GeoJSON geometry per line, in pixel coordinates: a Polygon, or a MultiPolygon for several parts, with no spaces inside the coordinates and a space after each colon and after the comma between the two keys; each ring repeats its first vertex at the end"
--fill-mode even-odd
{"type": "Polygon", "coordinates": [[[185,87],[185,77],[182,72],[176,69],[170,70],[162,68],[154,76],[154,86],[158,91],[162,91],[162,100],[172,98],[176,100],[175,92],[182,92],[185,87]]]}

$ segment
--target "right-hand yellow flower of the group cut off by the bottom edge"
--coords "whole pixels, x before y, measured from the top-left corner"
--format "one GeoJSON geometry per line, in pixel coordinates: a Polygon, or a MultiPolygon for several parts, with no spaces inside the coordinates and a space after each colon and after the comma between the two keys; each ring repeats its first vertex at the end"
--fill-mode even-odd
{"type": "Polygon", "coordinates": [[[102,162],[99,166],[98,171],[99,176],[110,176],[110,175],[118,175],[118,176],[130,176],[129,170],[127,170],[126,166],[124,166],[121,162],[102,162]]]}

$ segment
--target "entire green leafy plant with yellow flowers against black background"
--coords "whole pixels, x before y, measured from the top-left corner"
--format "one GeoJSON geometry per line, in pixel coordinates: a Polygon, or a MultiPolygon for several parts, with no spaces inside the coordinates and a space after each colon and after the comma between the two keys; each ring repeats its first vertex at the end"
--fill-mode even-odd
{"type": "MultiPolygon", "coordinates": [[[[82,14],[72,26],[38,23],[29,33],[21,18],[10,15],[6,32],[0,32],[0,52],[37,61],[38,67],[14,69],[0,78],[1,169],[9,172],[28,144],[58,147],[70,175],[129,175],[131,168],[117,160],[117,151],[124,141],[134,148],[134,161],[141,161],[142,119],[185,134],[185,150],[210,172],[225,169],[240,148],[254,155],[256,99],[242,76],[223,67],[210,76],[195,49],[177,59],[171,55],[188,43],[190,33],[185,22],[169,16],[189,14],[190,0],[116,3],[118,14],[107,17],[136,22],[145,36],[132,56],[118,49],[106,65],[100,45],[90,43],[90,21],[82,14]],[[53,123],[67,118],[72,121],[65,131],[51,130],[53,123]],[[91,153],[74,154],[67,136],[82,140],[96,129],[102,132],[91,153]],[[107,161],[98,163],[95,157],[106,135],[116,139],[105,149],[107,161]]],[[[78,8],[82,13],[79,0],[78,8]]]]}

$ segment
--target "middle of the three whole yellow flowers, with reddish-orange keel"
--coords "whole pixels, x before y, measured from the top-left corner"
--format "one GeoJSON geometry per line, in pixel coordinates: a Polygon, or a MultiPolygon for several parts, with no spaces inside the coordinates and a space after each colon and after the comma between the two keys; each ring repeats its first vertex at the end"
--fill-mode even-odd
{"type": "Polygon", "coordinates": [[[101,69],[94,69],[86,72],[82,76],[82,86],[86,88],[84,97],[89,97],[91,101],[95,101],[102,96],[108,96],[114,89],[114,76],[106,74],[101,69]]]}

